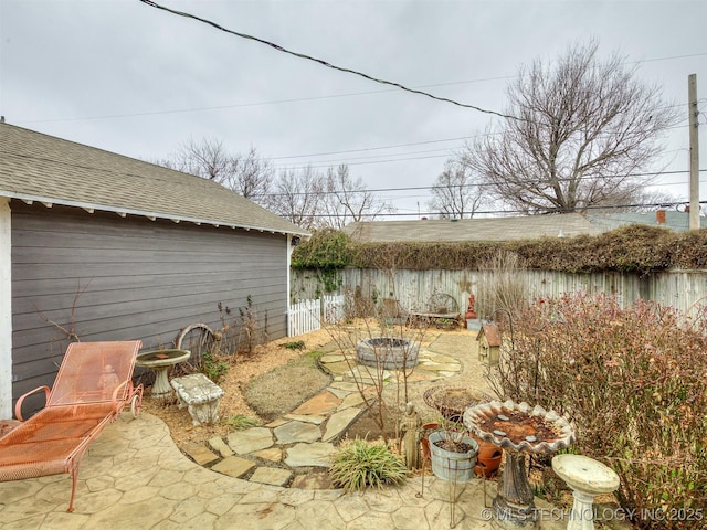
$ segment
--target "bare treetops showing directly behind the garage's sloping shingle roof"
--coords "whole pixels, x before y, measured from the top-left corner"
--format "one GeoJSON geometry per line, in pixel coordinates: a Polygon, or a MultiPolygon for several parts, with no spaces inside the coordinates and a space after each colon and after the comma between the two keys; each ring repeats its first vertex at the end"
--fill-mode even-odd
{"type": "Polygon", "coordinates": [[[167,160],[158,161],[178,171],[210,179],[258,204],[267,205],[274,169],[254,147],[245,153],[231,153],[223,141],[203,138],[190,139],[167,160]]]}

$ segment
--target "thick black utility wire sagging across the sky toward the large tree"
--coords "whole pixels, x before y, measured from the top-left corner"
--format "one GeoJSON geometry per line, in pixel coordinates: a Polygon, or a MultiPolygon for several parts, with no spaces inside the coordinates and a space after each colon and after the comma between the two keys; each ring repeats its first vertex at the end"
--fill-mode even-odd
{"type": "Polygon", "coordinates": [[[324,61],[323,59],[317,59],[317,57],[314,57],[312,55],[307,55],[307,54],[304,54],[304,53],[299,53],[299,52],[294,52],[292,50],[287,50],[286,47],[283,47],[279,44],[275,44],[274,42],[270,42],[270,41],[266,41],[264,39],[260,39],[257,36],[249,35],[247,33],[241,33],[239,31],[229,30],[228,28],[224,28],[224,26],[222,26],[222,25],[220,25],[220,24],[218,24],[218,23],[215,23],[215,22],[213,22],[213,21],[211,21],[209,19],[203,19],[201,17],[197,17],[196,14],[187,13],[184,11],[178,11],[178,10],[175,10],[175,9],[170,9],[170,8],[167,8],[165,6],[160,6],[159,3],[156,3],[156,2],[154,2],[151,0],[139,0],[139,1],[145,3],[145,4],[147,4],[147,6],[150,6],[152,8],[161,9],[163,11],[167,11],[167,12],[172,13],[172,14],[177,14],[179,17],[184,17],[187,19],[193,19],[193,20],[197,20],[199,22],[203,22],[204,24],[211,25],[212,28],[215,28],[219,31],[223,31],[225,33],[230,33],[232,35],[240,36],[241,39],[246,39],[246,40],[250,40],[250,41],[260,42],[261,44],[265,44],[266,46],[270,46],[270,47],[272,47],[274,50],[277,50],[278,52],[287,53],[287,54],[293,55],[295,57],[305,59],[307,61],[313,61],[313,62],[318,63],[318,64],[320,64],[323,66],[326,66],[327,68],[337,70],[339,72],[345,72],[347,74],[358,75],[359,77],[363,77],[365,80],[372,81],[374,83],[380,83],[381,85],[394,86],[397,88],[400,88],[401,91],[410,92],[412,94],[419,94],[421,96],[430,97],[430,98],[436,99],[439,102],[451,103],[452,105],[456,105],[458,107],[471,108],[471,109],[477,110],[479,113],[489,114],[489,115],[494,115],[494,116],[499,116],[502,118],[508,118],[508,119],[515,119],[515,120],[519,120],[519,121],[525,121],[524,118],[519,118],[517,116],[511,116],[509,114],[498,113],[496,110],[489,110],[487,108],[477,107],[476,105],[468,105],[468,104],[465,104],[465,103],[460,103],[460,102],[457,102],[455,99],[450,99],[447,97],[435,96],[435,95],[433,95],[433,94],[431,94],[429,92],[418,91],[416,88],[410,88],[408,86],[401,85],[400,83],[395,83],[395,82],[387,81],[387,80],[381,80],[379,77],[373,77],[371,75],[365,74],[365,73],[356,71],[356,70],[346,68],[346,67],[342,67],[342,66],[337,66],[337,65],[331,64],[331,63],[329,63],[327,61],[324,61]]]}

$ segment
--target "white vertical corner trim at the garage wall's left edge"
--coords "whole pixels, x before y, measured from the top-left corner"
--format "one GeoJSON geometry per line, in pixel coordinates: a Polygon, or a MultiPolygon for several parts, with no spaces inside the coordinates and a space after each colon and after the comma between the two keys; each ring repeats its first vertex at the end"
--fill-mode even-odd
{"type": "Polygon", "coordinates": [[[0,198],[0,420],[12,417],[12,232],[10,199],[0,198]]]}

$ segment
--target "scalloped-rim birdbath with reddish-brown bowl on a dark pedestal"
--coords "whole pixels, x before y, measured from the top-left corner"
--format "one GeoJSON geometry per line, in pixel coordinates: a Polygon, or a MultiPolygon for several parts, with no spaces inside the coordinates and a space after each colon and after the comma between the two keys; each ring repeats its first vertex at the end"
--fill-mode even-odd
{"type": "Polygon", "coordinates": [[[494,499],[504,528],[538,528],[532,489],[526,475],[526,455],[551,455],[574,442],[574,430],[555,411],[528,403],[490,401],[468,407],[464,425],[479,438],[506,452],[506,467],[494,499]]]}

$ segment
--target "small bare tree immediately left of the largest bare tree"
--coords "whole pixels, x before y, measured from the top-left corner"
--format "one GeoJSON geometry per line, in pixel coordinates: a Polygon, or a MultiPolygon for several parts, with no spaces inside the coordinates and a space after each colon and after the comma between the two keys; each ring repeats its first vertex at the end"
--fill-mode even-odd
{"type": "Polygon", "coordinates": [[[431,211],[440,212],[441,219],[473,218],[484,203],[483,188],[474,181],[469,168],[458,160],[447,160],[444,171],[434,181],[431,211]]]}

